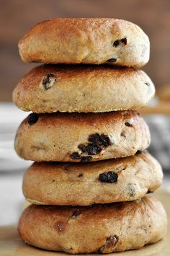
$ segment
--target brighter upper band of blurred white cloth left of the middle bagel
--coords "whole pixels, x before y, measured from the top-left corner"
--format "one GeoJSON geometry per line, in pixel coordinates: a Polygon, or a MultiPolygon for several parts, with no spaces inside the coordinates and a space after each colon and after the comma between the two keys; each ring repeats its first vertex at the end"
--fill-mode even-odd
{"type": "Polygon", "coordinates": [[[28,112],[12,103],[0,103],[0,173],[27,168],[29,161],[19,159],[14,151],[14,136],[28,112]]]}

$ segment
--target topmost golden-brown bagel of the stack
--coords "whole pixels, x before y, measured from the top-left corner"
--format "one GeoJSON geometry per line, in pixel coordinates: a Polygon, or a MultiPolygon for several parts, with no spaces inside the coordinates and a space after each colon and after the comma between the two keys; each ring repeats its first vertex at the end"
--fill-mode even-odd
{"type": "Polygon", "coordinates": [[[148,62],[149,50],[148,36],[140,27],[109,18],[46,20],[32,27],[19,41],[24,62],[141,67],[148,62]]]}

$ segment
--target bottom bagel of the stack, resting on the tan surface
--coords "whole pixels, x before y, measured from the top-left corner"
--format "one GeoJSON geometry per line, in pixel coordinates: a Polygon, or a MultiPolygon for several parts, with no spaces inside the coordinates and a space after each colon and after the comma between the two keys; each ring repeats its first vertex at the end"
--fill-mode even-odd
{"type": "Polygon", "coordinates": [[[166,234],[166,212],[151,195],[141,200],[87,207],[29,206],[19,235],[45,250],[122,252],[158,242],[166,234]]]}

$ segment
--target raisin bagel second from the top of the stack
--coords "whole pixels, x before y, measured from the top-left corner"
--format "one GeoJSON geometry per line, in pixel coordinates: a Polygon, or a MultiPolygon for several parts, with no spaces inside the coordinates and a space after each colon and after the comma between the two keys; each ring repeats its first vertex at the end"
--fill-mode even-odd
{"type": "Polygon", "coordinates": [[[37,113],[108,112],[144,107],[154,93],[151,79],[138,69],[45,65],[23,76],[13,100],[37,113]]]}

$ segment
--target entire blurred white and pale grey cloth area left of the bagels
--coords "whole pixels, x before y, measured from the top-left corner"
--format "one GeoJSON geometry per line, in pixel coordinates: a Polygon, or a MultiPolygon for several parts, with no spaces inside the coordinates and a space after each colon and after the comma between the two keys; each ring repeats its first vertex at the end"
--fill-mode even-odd
{"type": "Polygon", "coordinates": [[[16,223],[22,210],[22,174],[32,162],[19,159],[14,136],[28,112],[0,103],[0,226],[16,223]]]}

